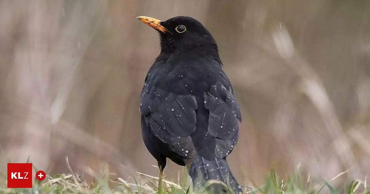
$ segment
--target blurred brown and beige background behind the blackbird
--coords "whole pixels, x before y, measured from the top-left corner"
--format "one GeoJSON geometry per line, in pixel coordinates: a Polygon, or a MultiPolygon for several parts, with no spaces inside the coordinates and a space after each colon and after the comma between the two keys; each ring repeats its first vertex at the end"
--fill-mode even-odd
{"type": "Polygon", "coordinates": [[[242,108],[228,157],[240,183],[273,167],[327,181],[370,173],[369,0],[1,0],[0,171],[30,157],[68,173],[68,156],[77,172],[158,176],[139,98],[159,39],[142,15],[194,17],[218,42],[242,108]]]}

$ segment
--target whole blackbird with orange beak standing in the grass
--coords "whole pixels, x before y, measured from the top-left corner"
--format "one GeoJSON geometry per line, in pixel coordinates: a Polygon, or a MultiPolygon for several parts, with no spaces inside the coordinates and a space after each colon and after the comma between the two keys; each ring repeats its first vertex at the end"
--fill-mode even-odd
{"type": "Polygon", "coordinates": [[[140,104],[142,138],[158,161],[159,187],[169,158],[187,167],[195,188],[218,180],[208,185],[213,193],[227,192],[225,185],[241,192],[226,161],[238,142],[241,114],[216,41],[191,17],[138,19],[160,37],[140,104]]]}

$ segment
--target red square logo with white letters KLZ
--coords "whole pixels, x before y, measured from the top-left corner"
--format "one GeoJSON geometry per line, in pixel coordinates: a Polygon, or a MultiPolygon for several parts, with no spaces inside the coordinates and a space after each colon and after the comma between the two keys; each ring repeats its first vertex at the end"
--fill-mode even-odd
{"type": "Polygon", "coordinates": [[[8,188],[32,188],[31,163],[8,163],[8,188]]]}

